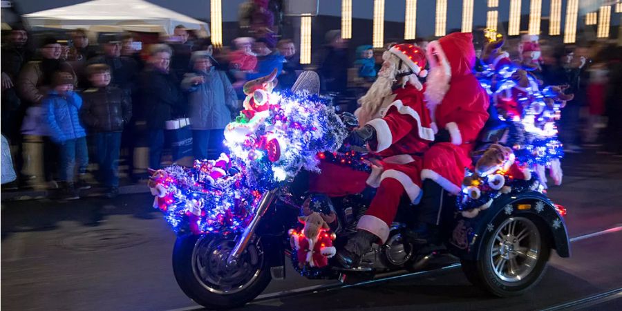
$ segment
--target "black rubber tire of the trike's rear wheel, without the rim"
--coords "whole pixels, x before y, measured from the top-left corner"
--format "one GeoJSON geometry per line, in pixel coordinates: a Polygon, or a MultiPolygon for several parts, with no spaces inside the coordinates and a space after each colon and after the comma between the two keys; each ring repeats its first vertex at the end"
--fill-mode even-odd
{"type": "Polygon", "coordinates": [[[529,274],[520,279],[520,281],[505,281],[496,274],[491,259],[492,245],[496,241],[496,232],[487,235],[487,241],[482,245],[482,253],[479,256],[480,260],[461,261],[462,271],[466,275],[466,279],[469,279],[473,285],[500,297],[518,296],[533,288],[540,279],[542,279],[551,252],[549,246],[549,231],[539,218],[531,215],[520,215],[508,218],[508,220],[513,218],[531,221],[537,228],[536,236],[540,241],[540,250],[534,268],[529,274]]]}

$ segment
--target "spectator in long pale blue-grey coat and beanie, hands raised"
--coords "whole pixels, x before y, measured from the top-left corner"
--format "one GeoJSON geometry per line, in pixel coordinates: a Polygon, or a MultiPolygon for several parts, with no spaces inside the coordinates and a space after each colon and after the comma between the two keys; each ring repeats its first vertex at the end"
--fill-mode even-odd
{"type": "Polygon", "coordinates": [[[192,71],[184,75],[181,87],[188,97],[192,151],[195,160],[215,159],[224,149],[225,126],[239,108],[236,92],[206,51],[192,53],[190,62],[192,71]]]}

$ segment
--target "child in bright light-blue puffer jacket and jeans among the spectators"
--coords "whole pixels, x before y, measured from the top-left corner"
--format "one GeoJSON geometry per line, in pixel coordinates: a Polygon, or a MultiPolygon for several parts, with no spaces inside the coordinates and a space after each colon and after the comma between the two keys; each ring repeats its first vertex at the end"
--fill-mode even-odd
{"type": "MultiPolygon", "coordinates": [[[[62,183],[64,200],[79,198],[74,184],[76,162],[80,175],[86,173],[88,150],[86,131],[79,120],[82,98],[73,91],[73,75],[59,71],[53,77],[54,89],[43,100],[50,137],[60,150],[59,179],[62,183]]],[[[79,179],[77,187],[85,189],[86,184],[79,179]]]]}

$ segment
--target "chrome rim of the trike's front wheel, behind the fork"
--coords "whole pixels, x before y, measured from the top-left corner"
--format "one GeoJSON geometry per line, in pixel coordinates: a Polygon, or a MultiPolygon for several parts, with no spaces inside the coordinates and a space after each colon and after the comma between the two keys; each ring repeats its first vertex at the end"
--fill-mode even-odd
{"type": "Polygon", "coordinates": [[[229,253],[235,246],[230,239],[200,237],[192,250],[192,272],[199,283],[216,294],[234,294],[251,285],[263,265],[263,251],[251,243],[234,263],[229,253]]]}

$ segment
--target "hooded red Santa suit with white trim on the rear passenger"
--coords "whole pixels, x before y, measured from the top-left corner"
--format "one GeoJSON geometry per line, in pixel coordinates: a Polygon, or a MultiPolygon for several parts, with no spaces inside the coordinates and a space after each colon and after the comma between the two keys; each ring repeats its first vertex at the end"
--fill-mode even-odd
{"type": "Polygon", "coordinates": [[[441,66],[451,75],[449,90],[434,108],[436,125],[449,131],[451,142],[434,144],[426,151],[421,176],[458,194],[464,169],[471,166],[469,153],[488,119],[489,98],[472,72],[473,35],[454,32],[430,42],[427,52],[432,66],[441,66]]]}

